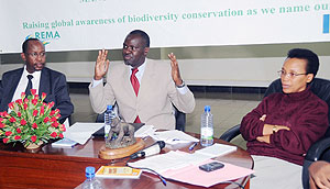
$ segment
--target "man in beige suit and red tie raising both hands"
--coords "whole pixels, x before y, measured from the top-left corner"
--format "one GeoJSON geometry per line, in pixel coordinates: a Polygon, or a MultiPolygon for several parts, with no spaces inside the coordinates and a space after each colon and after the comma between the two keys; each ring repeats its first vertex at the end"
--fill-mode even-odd
{"type": "Polygon", "coordinates": [[[127,122],[173,130],[173,104],[179,111],[190,113],[195,98],[180,77],[175,55],[168,55],[169,65],[146,58],[148,51],[150,38],[140,30],[125,37],[122,48],[124,64],[110,65],[108,51],[99,51],[94,80],[89,86],[91,107],[95,112],[102,113],[107,104],[117,102],[119,113],[127,122]],[[107,84],[103,86],[106,75],[107,84]]]}

